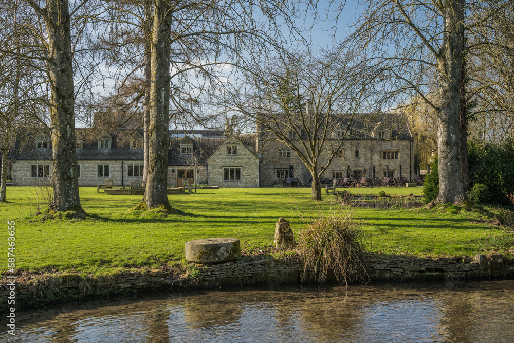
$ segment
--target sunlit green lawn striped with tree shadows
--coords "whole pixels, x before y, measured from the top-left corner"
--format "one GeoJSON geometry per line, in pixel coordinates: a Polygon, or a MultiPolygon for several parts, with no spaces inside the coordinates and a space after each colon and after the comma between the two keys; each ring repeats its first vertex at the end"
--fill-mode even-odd
{"type": "MultiPolygon", "coordinates": [[[[421,193],[421,188],[359,188],[354,193],[421,193]]],[[[127,212],[141,196],[97,194],[96,188],[80,189],[86,219],[42,220],[35,216],[30,187],[9,187],[8,203],[0,204],[0,220],[16,221],[16,268],[41,271],[65,270],[94,274],[117,268],[156,268],[180,262],[185,242],[209,237],[235,237],[242,248],[273,245],[279,216],[291,221],[293,230],[304,226],[303,213],[337,210],[335,197],[321,203],[310,199],[310,188],[225,188],[200,190],[198,194],[170,195],[177,214],[160,210],[127,212]]],[[[352,218],[365,223],[363,242],[371,252],[417,256],[454,256],[485,252],[510,254],[514,234],[492,225],[485,208],[465,210],[439,206],[426,209],[356,209],[352,218]]],[[[0,241],[7,242],[7,230],[0,241]]],[[[1,245],[7,250],[7,244],[1,245]]],[[[7,253],[7,251],[5,251],[7,253]]],[[[7,254],[5,254],[7,255],[7,254]]],[[[0,272],[6,271],[6,263],[0,272]]]]}

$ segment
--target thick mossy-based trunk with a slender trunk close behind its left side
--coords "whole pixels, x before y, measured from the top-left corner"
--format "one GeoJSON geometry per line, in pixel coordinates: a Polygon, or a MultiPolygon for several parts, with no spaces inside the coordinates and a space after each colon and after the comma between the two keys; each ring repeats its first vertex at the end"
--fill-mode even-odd
{"type": "Polygon", "coordinates": [[[168,201],[168,113],[170,103],[170,34],[171,7],[166,0],[154,3],[152,71],[150,86],[150,122],[148,136],[148,178],[144,201],[147,209],[164,207],[172,211],[168,201]]]}

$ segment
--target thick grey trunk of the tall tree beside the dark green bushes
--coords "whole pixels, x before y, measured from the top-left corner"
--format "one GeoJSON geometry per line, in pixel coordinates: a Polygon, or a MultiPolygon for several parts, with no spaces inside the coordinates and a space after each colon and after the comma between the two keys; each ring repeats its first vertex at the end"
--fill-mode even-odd
{"type": "Polygon", "coordinates": [[[438,57],[439,120],[437,148],[439,157],[439,203],[454,203],[465,196],[462,183],[460,144],[460,80],[464,49],[464,9],[457,0],[446,2],[445,42],[438,57]]]}

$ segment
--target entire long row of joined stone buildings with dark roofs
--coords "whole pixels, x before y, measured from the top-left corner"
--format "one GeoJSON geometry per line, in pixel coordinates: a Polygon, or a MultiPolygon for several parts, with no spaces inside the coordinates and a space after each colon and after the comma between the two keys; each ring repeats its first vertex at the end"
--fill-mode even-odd
{"type": "MultiPolygon", "coordinates": [[[[345,127],[345,120],[335,127],[345,127]]],[[[335,129],[328,141],[337,141],[341,134],[335,129]]],[[[260,187],[283,184],[292,176],[308,184],[311,178],[295,152],[262,130],[239,136],[230,130],[170,130],[169,136],[168,187],[182,186],[184,179],[219,187],[260,187]]],[[[24,147],[16,145],[10,153],[14,186],[45,184],[51,177],[49,135],[27,137],[24,147]]],[[[79,186],[107,179],[128,186],[142,180],[143,131],[137,125],[105,131],[79,128],[77,137],[79,186]]],[[[329,153],[320,156],[319,166],[328,163],[329,153]]],[[[385,115],[352,121],[350,134],[322,177],[372,177],[373,167],[376,177],[388,169],[398,177],[402,168],[401,176],[414,178],[414,141],[406,121],[385,115]]]]}

